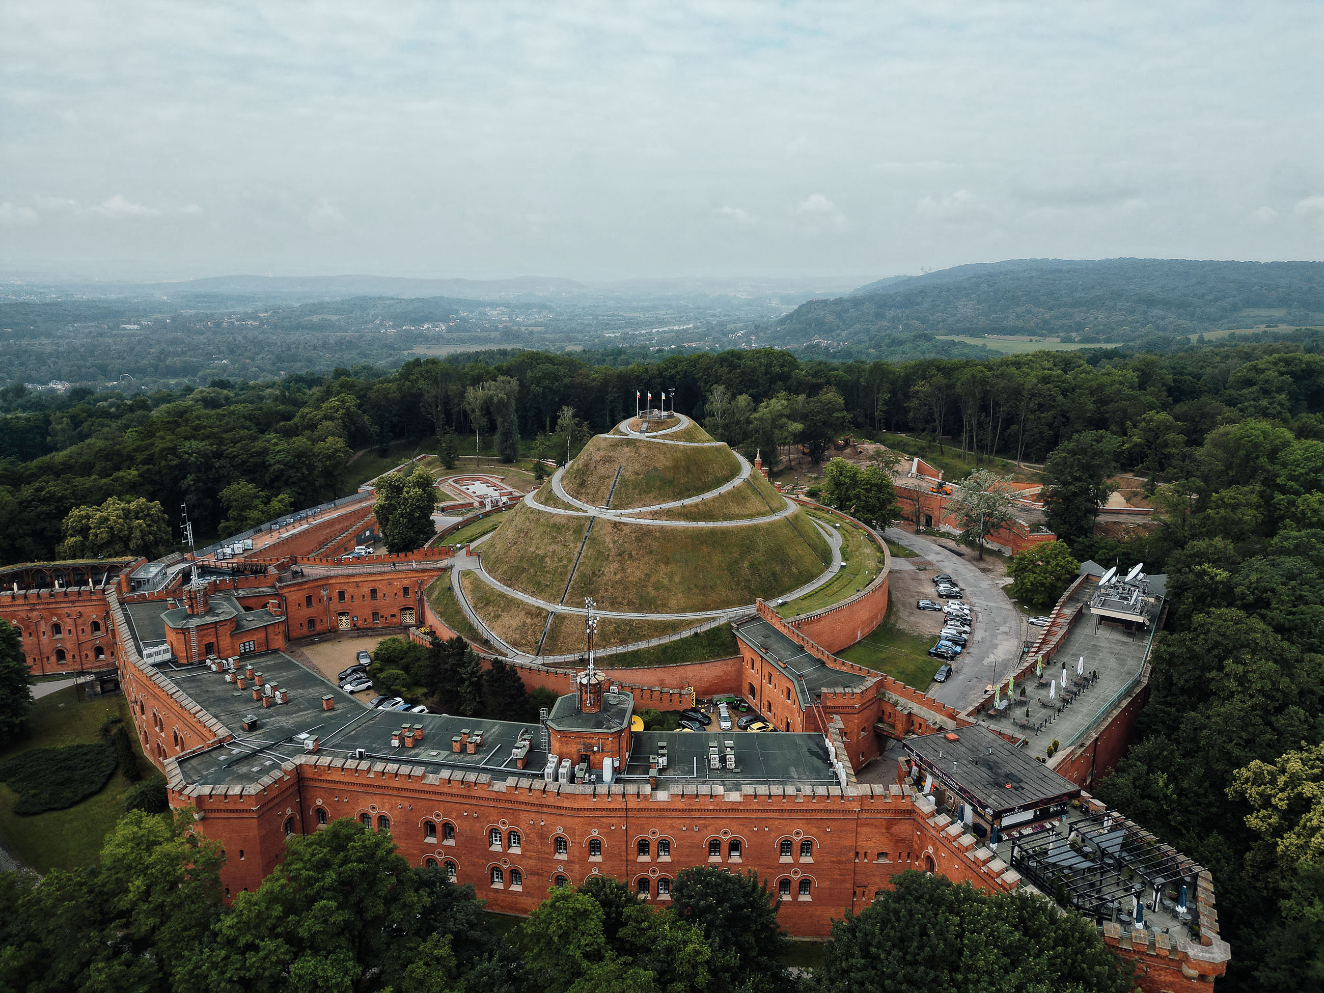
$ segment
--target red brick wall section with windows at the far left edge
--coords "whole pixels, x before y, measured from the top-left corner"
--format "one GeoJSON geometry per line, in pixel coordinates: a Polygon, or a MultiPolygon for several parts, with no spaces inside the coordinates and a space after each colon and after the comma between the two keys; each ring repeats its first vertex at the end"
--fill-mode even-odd
{"type": "Polygon", "coordinates": [[[102,591],[0,593],[0,620],[9,621],[23,636],[23,651],[33,675],[111,669],[117,662],[110,604],[102,591]],[[60,625],[58,637],[53,633],[54,624],[60,625]],[[94,630],[94,624],[101,630],[94,630]]]}

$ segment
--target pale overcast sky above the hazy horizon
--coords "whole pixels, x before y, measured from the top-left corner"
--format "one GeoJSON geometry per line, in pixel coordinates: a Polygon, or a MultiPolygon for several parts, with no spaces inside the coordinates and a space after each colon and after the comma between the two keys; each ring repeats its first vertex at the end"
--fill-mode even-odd
{"type": "Polygon", "coordinates": [[[0,267],[1324,258],[1324,4],[0,3],[0,267]]]}

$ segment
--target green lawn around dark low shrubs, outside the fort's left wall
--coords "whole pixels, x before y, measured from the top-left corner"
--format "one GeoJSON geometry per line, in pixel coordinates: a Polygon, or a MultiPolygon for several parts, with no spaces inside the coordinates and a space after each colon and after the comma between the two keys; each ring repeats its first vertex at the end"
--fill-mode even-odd
{"type": "MultiPolygon", "coordinates": [[[[82,687],[70,687],[37,700],[28,718],[28,735],[0,749],[0,760],[29,748],[98,743],[98,728],[111,716],[123,718],[132,730],[123,694],[98,696],[91,702],[83,700],[81,694],[82,687]]],[[[138,736],[130,736],[136,745],[138,736]]],[[[155,773],[140,751],[138,761],[144,776],[155,773]]],[[[128,780],[117,771],[94,797],[68,810],[50,810],[33,817],[16,816],[13,805],[17,794],[0,785],[0,837],[15,858],[38,873],[90,866],[97,861],[106,834],[124,813],[128,785],[128,780]]]]}

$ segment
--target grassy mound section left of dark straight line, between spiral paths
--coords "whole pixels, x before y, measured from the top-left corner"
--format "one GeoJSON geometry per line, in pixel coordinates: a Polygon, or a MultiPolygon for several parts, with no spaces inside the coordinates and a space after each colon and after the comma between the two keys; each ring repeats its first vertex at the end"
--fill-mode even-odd
{"type": "Polygon", "coordinates": [[[520,504],[483,543],[483,568],[511,589],[559,604],[588,522],[520,504]]]}

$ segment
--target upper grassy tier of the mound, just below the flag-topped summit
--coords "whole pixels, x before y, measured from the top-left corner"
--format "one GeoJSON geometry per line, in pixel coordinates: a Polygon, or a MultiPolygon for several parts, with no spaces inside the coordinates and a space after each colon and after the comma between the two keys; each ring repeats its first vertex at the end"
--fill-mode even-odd
{"type": "Polygon", "coordinates": [[[600,434],[571,462],[561,486],[575,499],[596,507],[605,506],[612,494],[612,510],[625,510],[698,496],[739,473],[740,463],[724,445],[659,445],[600,434]],[[621,478],[612,494],[618,467],[621,478]]]}

